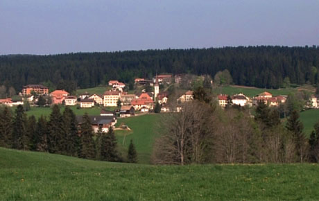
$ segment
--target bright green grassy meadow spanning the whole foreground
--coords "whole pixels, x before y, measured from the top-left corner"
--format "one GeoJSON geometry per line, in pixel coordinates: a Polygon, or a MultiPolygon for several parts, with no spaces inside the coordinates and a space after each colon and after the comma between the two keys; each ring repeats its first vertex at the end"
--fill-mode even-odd
{"type": "Polygon", "coordinates": [[[0,200],[317,200],[318,164],[150,166],[0,148],[0,200]]]}

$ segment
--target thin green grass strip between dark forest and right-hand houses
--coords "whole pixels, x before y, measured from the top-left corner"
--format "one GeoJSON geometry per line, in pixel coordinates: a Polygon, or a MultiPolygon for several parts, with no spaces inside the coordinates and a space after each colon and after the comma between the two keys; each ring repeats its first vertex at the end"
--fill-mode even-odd
{"type": "Polygon", "coordinates": [[[279,95],[288,95],[290,93],[294,93],[297,91],[297,89],[289,88],[289,89],[260,89],[260,88],[249,88],[249,87],[235,87],[235,86],[227,86],[227,87],[218,87],[214,89],[214,91],[217,91],[218,94],[227,94],[227,95],[234,95],[243,93],[248,97],[253,97],[258,94],[261,94],[264,91],[268,91],[273,96],[279,96],[279,95]]]}

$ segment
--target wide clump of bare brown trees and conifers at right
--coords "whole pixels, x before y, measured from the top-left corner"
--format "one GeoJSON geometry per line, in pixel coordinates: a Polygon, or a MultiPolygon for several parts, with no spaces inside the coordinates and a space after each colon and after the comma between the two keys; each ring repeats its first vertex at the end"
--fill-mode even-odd
{"type": "Polygon", "coordinates": [[[319,161],[319,121],[307,139],[293,110],[286,123],[259,102],[255,115],[227,103],[221,110],[203,89],[181,112],[165,114],[155,141],[155,164],[295,163],[319,161]]]}

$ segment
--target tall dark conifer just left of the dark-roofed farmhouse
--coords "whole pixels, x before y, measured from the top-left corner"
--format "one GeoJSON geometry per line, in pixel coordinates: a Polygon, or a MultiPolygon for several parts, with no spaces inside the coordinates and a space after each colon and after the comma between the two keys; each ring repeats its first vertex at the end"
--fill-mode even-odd
{"type": "Polygon", "coordinates": [[[83,123],[80,125],[80,157],[94,159],[96,156],[93,129],[87,113],[83,116],[83,123]]]}

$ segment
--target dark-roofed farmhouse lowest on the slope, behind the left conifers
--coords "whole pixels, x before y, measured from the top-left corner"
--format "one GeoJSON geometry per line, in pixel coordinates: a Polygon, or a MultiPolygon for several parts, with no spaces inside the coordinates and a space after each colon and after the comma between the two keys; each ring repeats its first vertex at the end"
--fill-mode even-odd
{"type": "MultiPolygon", "coordinates": [[[[83,116],[76,116],[79,124],[83,123],[83,116]]],[[[117,123],[115,116],[89,116],[89,120],[94,132],[98,132],[98,128],[102,128],[103,132],[108,132],[111,126],[117,123]]]]}

